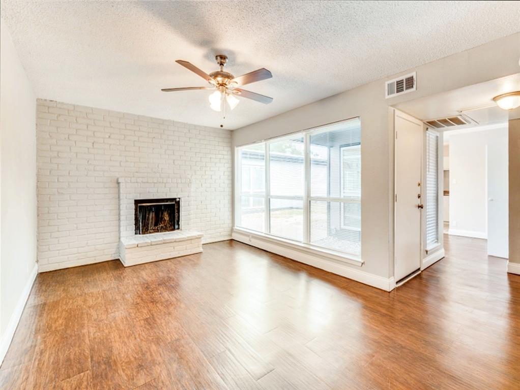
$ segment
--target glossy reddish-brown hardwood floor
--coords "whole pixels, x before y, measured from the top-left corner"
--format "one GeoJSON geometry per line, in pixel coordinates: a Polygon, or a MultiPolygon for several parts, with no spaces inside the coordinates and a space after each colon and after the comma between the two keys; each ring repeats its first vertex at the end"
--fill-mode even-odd
{"type": "Polygon", "coordinates": [[[2,389],[518,389],[520,276],[486,241],[391,293],[235,241],[37,276],[2,389]]]}

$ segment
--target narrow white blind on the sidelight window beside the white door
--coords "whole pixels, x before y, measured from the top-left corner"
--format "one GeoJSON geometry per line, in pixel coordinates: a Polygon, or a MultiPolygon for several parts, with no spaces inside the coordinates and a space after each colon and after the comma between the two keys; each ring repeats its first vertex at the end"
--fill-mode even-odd
{"type": "Polygon", "coordinates": [[[438,134],[426,131],[426,249],[439,242],[438,134]]]}

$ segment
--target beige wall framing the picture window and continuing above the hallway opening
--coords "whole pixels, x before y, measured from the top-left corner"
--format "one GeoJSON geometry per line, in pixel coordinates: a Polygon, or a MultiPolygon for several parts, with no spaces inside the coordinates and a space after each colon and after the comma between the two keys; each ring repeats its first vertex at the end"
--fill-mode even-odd
{"type": "MultiPolygon", "coordinates": [[[[520,33],[389,75],[262,122],[233,131],[233,145],[244,145],[336,120],[361,118],[362,269],[393,276],[393,128],[388,106],[518,72],[520,33]],[[417,91],[384,98],[384,80],[417,71],[417,91]]],[[[345,70],[353,71],[355,70],[345,70]]],[[[276,97],[275,102],[276,104],[276,97]]]]}

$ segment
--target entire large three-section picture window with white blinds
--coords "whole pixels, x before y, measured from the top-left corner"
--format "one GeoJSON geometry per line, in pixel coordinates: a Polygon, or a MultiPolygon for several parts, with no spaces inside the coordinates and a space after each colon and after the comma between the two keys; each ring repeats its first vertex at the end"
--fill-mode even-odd
{"type": "Polygon", "coordinates": [[[359,118],[237,148],[235,225],[361,255],[359,118]]]}

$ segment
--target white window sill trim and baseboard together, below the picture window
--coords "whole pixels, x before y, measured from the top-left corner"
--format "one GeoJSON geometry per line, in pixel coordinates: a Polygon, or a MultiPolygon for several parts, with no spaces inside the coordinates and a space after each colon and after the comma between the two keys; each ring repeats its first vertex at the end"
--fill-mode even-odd
{"type": "Polygon", "coordinates": [[[303,244],[289,243],[238,228],[233,229],[233,239],[381,290],[392,291],[395,288],[393,277],[385,278],[353,267],[362,266],[363,262],[360,260],[339,258],[330,252],[307,248],[303,244]]]}

